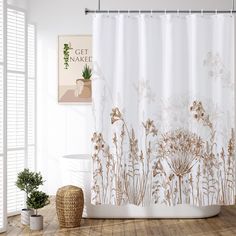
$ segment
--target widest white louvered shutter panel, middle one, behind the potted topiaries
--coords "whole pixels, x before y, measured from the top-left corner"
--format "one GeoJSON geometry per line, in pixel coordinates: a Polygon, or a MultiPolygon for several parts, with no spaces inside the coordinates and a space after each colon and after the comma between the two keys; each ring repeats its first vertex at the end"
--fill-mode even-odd
{"type": "Polygon", "coordinates": [[[15,186],[27,160],[27,83],[25,12],[7,9],[7,211],[24,207],[24,194],[15,186]]]}

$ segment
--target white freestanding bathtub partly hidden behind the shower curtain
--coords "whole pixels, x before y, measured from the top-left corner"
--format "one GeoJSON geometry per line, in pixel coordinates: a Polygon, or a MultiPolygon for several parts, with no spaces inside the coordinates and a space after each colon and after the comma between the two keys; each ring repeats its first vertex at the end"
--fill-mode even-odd
{"type": "Polygon", "coordinates": [[[196,207],[187,204],[173,207],[153,205],[94,206],[90,203],[91,157],[89,155],[66,155],[61,158],[63,185],[75,185],[83,189],[85,218],[206,218],[220,213],[220,206],[196,207]]]}

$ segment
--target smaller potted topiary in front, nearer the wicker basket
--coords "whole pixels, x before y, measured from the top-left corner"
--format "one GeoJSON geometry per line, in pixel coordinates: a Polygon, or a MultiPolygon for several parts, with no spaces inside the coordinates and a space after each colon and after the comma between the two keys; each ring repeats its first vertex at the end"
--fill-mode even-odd
{"type": "Polygon", "coordinates": [[[27,205],[35,210],[35,214],[30,216],[30,229],[43,229],[43,216],[38,215],[38,209],[50,203],[49,196],[42,191],[33,191],[27,199],[27,205]]]}

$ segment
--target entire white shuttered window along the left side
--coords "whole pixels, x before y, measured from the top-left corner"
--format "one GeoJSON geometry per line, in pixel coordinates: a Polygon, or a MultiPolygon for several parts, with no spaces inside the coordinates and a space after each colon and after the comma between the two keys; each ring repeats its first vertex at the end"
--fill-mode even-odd
{"type": "Polygon", "coordinates": [[[24,207],[17,173],[36,165],[35,26],[25,11],[5,3],[0,0],[0,232],[6,216],[24,207]]]}

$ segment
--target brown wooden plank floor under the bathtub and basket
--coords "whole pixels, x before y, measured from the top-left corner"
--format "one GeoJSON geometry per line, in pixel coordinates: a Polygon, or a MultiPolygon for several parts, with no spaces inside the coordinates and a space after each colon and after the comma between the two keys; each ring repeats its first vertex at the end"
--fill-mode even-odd
{"type": "Polygon", "coordinates": [[[222,207],[221,213],[208,219],[82,219],[81,227],[60,229],[55,211],[55,201],[40,212],[44,216],[44,230],[30,231],[20,224],[20,216],[9,218],[9,227],[4,235],[235,235],[236,236],[236,206],[222,207]]]}

